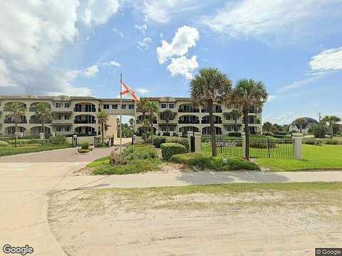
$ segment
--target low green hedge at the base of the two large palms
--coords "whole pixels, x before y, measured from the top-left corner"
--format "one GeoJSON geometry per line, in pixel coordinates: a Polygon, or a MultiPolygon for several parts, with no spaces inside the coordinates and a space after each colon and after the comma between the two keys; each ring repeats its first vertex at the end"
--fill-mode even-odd
{"type": "Polygon", "coordinates": [[[206,156],[199,153],[176,154],[170,161],[198,169],[212,169],[215,171],[259,170],[259,166],[245,159],[233,156],[206,156]]]}

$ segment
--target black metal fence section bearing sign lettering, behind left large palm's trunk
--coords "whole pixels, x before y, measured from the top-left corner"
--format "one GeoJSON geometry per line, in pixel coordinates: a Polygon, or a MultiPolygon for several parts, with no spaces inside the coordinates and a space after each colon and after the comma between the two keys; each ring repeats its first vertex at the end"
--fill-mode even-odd
{"type": "MultiPolygon", "coordinates": [[[[242,156],[242,138],[217,136],[216,145],[217,153],[219,154],[227,153],[234,156],[242,156]]],[[[212,138],[210,136],[202,136],[201,149],[204,153],[212,151],[212,138]]]]}

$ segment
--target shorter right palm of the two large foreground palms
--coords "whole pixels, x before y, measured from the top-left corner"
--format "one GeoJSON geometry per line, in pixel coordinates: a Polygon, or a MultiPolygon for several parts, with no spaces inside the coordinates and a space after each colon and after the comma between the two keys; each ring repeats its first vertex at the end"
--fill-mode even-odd
{"type": "Polygon", "coordinates": [[[249,160],[249,112],[254,107],[255,113],[262,111],[262,106],[267,100],[267,92],[263,82],[252,79],[237,81],[228,104],[232,108],[240,110],[244,116],[244,133],[246,134],[245,157],[249,160]]]}

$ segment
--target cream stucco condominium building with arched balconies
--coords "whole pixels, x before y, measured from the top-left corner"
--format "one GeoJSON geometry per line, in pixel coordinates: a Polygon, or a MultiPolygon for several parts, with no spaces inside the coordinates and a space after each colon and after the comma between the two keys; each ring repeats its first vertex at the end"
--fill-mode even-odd
{"type": "MultiPolygon", "coordinates": [[[[153,122],[154,131],[183,132],[188,131],[210,133],[209,113],[204,108],[196,108],[187,97],[149,97],[150,101],[159,106],[153,122]],[[170,110],[174,112],[174,119],[168,126],[165,120],[160,118],[160,113],[170,110]]],[[[137,109],[137,103],[133,100],[101,99],[95,97],[68,97],[68,96],[0,96],[0,133],[3,136],[14,134],[14,120],[11,118],[11,102],[21,102],[26,107],[25,114],[18,124],[19,132],[25,136],[35,136],[40,132],[59,135],[78,134],[79,136],[94,136],[100,134],[100,124],[96,119],[99,111],[109,114],[108,135],[116,136],[117,116],[120,114],[131,116],[135,119],[135,131],[142,132],[142,113],[137,109]],[[45,124],[45,131],[41,131],[41,121],[36,117],[36,106],[39,102],[46,102],[51,106],[52,118],[45,124]]],[[[242,118],[235,124],[230,112],[232,110],[224,105],[214,105],[214,126],[217,134],[229,134],[229,132],[242,132],[244,125],[242,118]]],[[[256,113],[254,108],[249,112],[249,129],[252,134],[261,132],[261,113],[256,113]]]]}

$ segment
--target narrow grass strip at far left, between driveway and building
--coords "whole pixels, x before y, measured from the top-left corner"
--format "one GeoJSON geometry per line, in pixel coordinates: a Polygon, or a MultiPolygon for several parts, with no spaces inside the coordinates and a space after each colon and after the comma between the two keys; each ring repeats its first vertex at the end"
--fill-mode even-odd
{"type": "Polygon", "coordinates": [[[0,146],[0,156],[11,156],[15,154],[33,153],[40,151],[48,151],[53,149],[65,149],[71,145],[52,145],[52,144],[24,144],[18,145],[17,147],[11,146],[0,146]]]}

